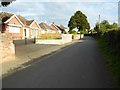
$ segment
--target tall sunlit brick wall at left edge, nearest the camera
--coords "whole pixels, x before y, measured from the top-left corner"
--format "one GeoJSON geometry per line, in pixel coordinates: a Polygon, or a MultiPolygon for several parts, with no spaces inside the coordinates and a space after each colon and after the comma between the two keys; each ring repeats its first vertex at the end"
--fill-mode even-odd
{"type": "Polygon", "coordinates": [[[0,54],[2,63],[15,60],[15,46],[10,34],[0,33],[0,54]]]}

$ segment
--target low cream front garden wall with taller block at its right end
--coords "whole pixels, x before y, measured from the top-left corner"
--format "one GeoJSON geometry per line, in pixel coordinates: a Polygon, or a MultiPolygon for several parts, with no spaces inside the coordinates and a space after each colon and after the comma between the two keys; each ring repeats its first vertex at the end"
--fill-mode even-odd
{"type": "Polygon", "coordinates": [[[72,34],[62,34],[62,39],[56,40],[36,40],[36,44],[65,44],[72,41],[72,34]]]}

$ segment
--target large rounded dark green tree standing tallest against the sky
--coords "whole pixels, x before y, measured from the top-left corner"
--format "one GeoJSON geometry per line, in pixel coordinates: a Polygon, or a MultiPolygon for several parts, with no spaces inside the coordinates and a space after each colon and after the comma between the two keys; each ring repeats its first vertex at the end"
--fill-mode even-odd
{"type": "Polygon", "coordinates": [[[83,14],[81,11],[77,11],[76,13],[74,13],[74,16],[70,18],[68,27],[69,30],[77,28],[78,31],[85,31],[86,29],[90,29],[87,16],[83,14]]]}

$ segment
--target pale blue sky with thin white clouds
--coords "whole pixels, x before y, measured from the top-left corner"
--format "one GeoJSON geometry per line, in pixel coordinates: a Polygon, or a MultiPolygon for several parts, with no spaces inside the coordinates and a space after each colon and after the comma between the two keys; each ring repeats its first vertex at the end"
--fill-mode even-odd
{"type": "Polygon", "coordinates": [[[118,22],[119,0],[16,0],[8,7],[0,7],[0,11],[21,15],[38,23],[67,27],[70,17],[78,10],[82,11],[91,27],[95,26],[100,15],[100,21],[118,22]]]}

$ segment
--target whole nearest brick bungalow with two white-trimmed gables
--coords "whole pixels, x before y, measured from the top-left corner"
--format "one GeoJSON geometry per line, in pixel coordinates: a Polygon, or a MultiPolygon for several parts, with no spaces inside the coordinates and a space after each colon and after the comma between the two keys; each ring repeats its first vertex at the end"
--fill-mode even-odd
{"type": "Polygon", "coordinates": [[[7,12],[0,13],[1,29],[2,33],[10,33],[12,38],[33,38],[39,37],[40,26],[35,20],[27,20],[20,15],[15,15],[7,12]]]}

